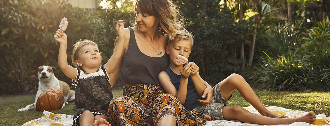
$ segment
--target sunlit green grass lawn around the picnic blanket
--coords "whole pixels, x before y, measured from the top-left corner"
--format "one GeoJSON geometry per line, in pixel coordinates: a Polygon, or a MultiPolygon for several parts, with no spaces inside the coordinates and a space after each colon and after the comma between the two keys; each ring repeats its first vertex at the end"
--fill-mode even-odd
{"type": "MultiPolygon", "coordinates": [[[[325,113],[330,116],[330,93],[329,92],[276,92],[254,90],[261,102],[269,106],[278,106],[292,110],[313,110],[315,114],[325,113]]],[[[122,90],[113,90],[114,97],[122,95],[122,90]]],[[[35,94],[1,96],[0,97],[0,126],[20,126],[32,119],[40,118],[41,111],[35,109],[25,112],[18,112],[28,104],[34,102],[35,94]]],[[[53,110],[53,113],[62,113],[73,115],[74,102],[65,105],[63,109],[53,110]]],[[[250,104],[246,102],[237,90],[228,103],[229,106],[247,107],[250,104]]]]}

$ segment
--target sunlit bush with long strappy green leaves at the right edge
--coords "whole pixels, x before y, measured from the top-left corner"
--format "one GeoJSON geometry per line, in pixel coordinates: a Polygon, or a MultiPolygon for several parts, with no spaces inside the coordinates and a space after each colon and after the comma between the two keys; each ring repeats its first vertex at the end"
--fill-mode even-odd
{"type": "MultiPolygon", "coordinates": [[[[262,88],[270,90],[306,89],[328,91],[330,88],[330,22],[318,22],[318,27],[304,33],[303,44],[296,53],[261,58],[263,64],[254,78],[262,88]],[[300,50],[300,51],[299,51],[300,50]]],[[[285,52],[285,51],[284,51],[285,52]]]]}

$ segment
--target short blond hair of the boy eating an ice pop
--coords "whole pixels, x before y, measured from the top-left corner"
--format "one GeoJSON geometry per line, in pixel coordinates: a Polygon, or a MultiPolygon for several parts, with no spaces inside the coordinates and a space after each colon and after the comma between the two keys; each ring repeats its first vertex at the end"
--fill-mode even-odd
{"type": "Polygon", "coordinates": [[[173,42],[177,42],[179,40],[187,40],[190,42],[190,45],[194,45],[194,36],[191,35],[191,32],[189,32],[186,29],[178,31],[178,33],[174,36],[173,40],[170,40],[167,44],[167,46],[170,46],[173,42]]]}

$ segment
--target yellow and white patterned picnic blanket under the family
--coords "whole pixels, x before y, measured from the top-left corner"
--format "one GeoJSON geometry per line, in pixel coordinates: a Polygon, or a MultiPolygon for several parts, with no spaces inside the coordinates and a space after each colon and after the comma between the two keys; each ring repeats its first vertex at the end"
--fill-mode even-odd
{"type": "MultiPolygon", "coordinates": [[[[259,112],[253,108],[253,106],[244,107],[246,110],[259,114],[259,112]]],[[[281,115],[286,115],[289,118],[296,118],[307,114],[306,111],[290,110],[276,106],[266,106],[266,109],[281,115]]],[[[54,114],[49,111],[44,111],[41,118],[37,118],[24,123],[22,126],[71,126],[73,116],[66,114],[54,114]]],[[[256,124],[241,123],[239,121],[231,120],[214,120],[208,121],[206,126],[261,126],[256,124]]],[[[271,125],[269,125],[271,126],[271,125]]],[[[309,124],[305,122],[295,122],[290,125],[273,125],[273,126],[330,126],[330,117],[325,114],[316,115],[316,123],[309,124]]]]}

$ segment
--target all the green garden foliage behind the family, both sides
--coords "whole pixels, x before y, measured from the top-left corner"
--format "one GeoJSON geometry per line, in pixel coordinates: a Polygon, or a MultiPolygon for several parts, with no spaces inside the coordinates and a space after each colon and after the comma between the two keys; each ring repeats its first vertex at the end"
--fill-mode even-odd
{"type": "MultiPolygon", "coordinates": [[[[59,45],[53,35],[63,17],[69,21],[65,31],[68,63],[72,65],[72,46],[80,39],[97,43],[103,62],[107,61],[113,53],[116,21],[123,19],[125,27],[132,26],[136,13],[131,0],[106,1],[110,2],[109,8],[91,12],[72,7],[68,0],[1,0],[0,94],[36,91],[38,67],[58,68],[59,45]],[[117,2],[121,2],[121,7],[117,2]]],[[[329,2],[291,1],[292,10],[297,13],[293,22],[286,20],[287,1],[283,0],[171,2],[180,11],[178,20],[195,36],[189,61],[199,66],[200,75],[211,85],[238,73],[245,77],[254,75],[252,79],[261,88],[270,90],[330,88],[329,19],[323,19],[329,14],[329,2]],[[244,72],[241,65],[247,62],[252,50],[256,24],[253,62],[244,72]],[[242,44],[245,58],[240,58],[242,44]]],[[[60,69],[55,75],[72,82],[60,69]]]]}

